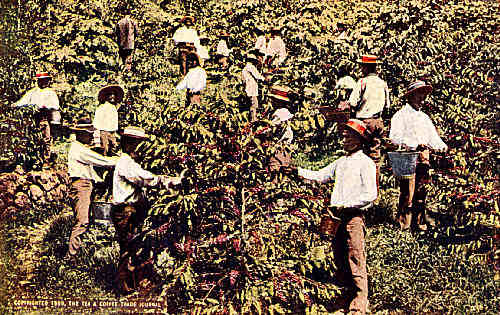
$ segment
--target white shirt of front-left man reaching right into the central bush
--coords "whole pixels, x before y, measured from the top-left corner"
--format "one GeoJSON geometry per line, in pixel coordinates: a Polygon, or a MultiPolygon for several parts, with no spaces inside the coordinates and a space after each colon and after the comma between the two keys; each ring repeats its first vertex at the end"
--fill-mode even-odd
{"type": "Polygon", "coordinates": [[[113,173],[113,204],[132,204],[142,195],[141,187],[156,186],[160,177],[143,169],[130,155],[122,153],[113,173]]]}

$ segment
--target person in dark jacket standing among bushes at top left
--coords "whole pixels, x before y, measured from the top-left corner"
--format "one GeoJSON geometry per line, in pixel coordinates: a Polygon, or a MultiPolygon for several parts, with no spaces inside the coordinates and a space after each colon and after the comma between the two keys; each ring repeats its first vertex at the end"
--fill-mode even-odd
{"type": "Polygon", "coordinates": [[[127,8],[123,10],[123,13],[126,15],[116,24],[115,36],[122,64],[125,65],[125,69],[130,70],[132,69],[138,27],[137,23],[130,17],[130,12],[127,8]]]}

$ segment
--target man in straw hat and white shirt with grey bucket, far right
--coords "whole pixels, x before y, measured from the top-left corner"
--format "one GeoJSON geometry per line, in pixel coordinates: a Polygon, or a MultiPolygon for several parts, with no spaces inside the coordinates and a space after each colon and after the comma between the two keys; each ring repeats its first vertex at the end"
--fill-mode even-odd
{"type": "Polygon", "coordinates": [[[448,146],[439,137],[429,116],[420,111],[432,87],[423,81],[409,85],[404,98],[408,101],[391,119],[389,139],[408,151],[420,151],[415,174],[400,178],[397,220],[401,229],[409,229],[412,219],[416,227],[426,230],[425,184],[429,182],[429,149],[446,151],[448,146]]]}

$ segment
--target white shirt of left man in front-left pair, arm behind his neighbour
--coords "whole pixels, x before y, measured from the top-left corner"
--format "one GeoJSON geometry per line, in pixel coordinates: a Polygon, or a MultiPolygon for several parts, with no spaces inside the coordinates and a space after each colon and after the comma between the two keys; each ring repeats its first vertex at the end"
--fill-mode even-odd
{"type": "Polygon", "coordinates": [[[113,167],[117,160],[118,157],[103,156],[75,140],[68,152],[68,173],[70,177],[101,182],[102,178],[96,173],[94,166],[113,167]]]}

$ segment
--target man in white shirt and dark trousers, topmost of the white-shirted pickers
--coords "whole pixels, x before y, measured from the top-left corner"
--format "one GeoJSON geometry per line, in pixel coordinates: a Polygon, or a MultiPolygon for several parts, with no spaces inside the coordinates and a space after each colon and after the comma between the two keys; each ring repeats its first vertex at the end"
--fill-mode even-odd
{"type": "Polygon", "coordinates": [[[181,74],[186,75],[188,69],[186,64],[187,55],[195,51],[195,47],[200,46],[198,32],[192,28],[195,23],[195,18],[185,16],[180,21],[184,26],[179,27],[173,36],[175,45],[179,49],[179,64],[181,74]]]}

